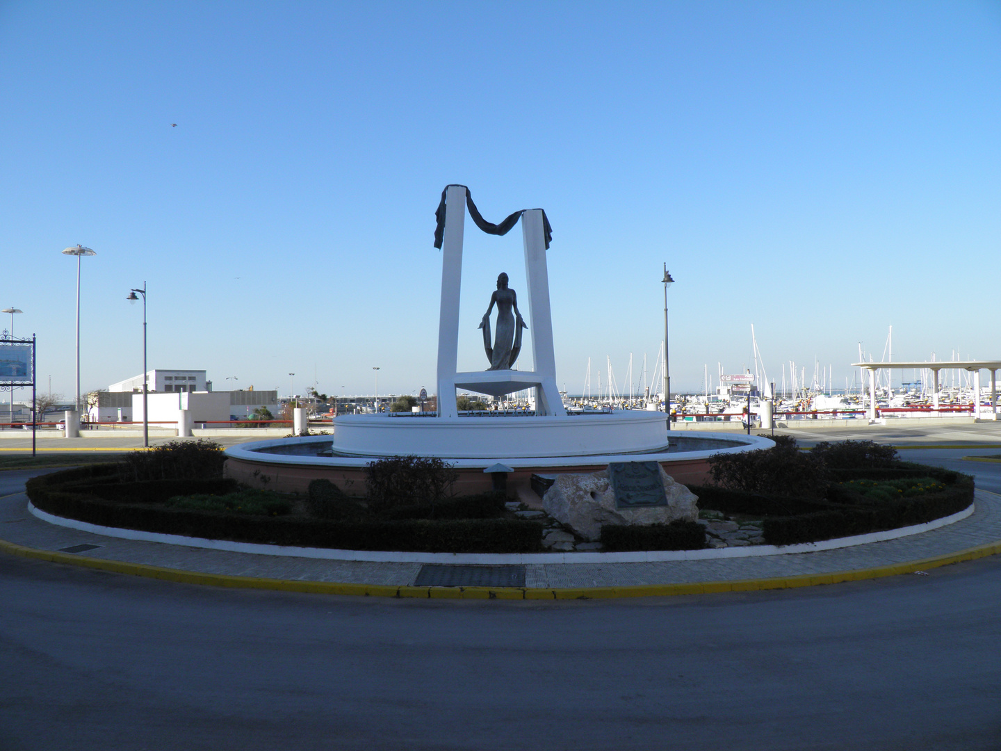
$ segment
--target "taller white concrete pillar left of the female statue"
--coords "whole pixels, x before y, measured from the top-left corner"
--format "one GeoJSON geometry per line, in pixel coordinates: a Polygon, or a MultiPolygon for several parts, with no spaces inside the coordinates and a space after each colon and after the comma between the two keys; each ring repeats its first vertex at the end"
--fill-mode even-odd
{"type": "Polygon", "coordinates": [[[441,237],[441,309],[438,313],[437,416],[456,418],[458,300],[462,284],[462,233],[465,228],[465,188],[461,185],[449,185],[445,188],[444,216],[444,233],[441,237]]]}

